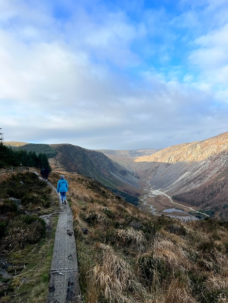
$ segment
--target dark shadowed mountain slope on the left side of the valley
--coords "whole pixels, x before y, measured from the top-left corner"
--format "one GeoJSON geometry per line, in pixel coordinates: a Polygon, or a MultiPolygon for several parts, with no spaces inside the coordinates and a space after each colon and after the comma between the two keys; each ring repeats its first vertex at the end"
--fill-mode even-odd
{"type": "Polygon", "coordinates": [[[77,172],[101,182],[117,195],[133,204],[140,196],[140,186],[133,171],[122,167],[102,152],[88,150],[71,144],[51,144],[58,154],[50,159],[54,170],[77,172]]]}

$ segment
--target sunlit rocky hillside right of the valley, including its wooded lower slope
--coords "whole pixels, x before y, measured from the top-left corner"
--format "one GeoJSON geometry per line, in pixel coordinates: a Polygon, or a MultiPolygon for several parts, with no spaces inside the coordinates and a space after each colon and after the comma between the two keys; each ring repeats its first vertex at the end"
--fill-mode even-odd
{"type": "MultiPolygon", "coordinates": [[[[171,146],[136,158],[133,157],[135,154],[127,157],[127,152],[105,152],[111,159],[133,170],[139,178],[144,192],[141,208],[145,209],[144,204],[147,203],[155,213],[172,209],[174,205],[165,196],[154,196],[155,190],[160,189],[182,205],[194,206],[195,209],[228,220],[227,203],[224,200],[224,197],[228,197],[227,188],[221,187],[221,183],[217,182],[222,178],[219,177],[220,174],[227,179],[228,133],[203,141],[171,146]],[[204,197],[204,193],[208,193],[208,196],[204,197]]],[[[185,207],[181,207],[181,210],[186,212],[185,207]]],[[[171,214],[177,215],[175,210],[171,214]]]]}

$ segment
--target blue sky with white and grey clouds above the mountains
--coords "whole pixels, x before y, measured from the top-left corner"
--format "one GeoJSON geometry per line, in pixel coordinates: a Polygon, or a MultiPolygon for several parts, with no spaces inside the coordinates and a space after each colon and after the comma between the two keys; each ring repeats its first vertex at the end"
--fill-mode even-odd
{"type": "Polygon", "coordinates": [[[0,0],[4,141],[163,149],[228,131],[227,0],[0,0]]]}

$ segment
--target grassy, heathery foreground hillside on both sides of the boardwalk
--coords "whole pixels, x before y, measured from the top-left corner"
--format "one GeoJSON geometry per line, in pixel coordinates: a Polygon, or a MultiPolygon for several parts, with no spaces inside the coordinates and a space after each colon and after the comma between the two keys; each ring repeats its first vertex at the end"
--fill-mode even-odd
{"type": "MultiPolygon", "coordinates": [[[[183,223],[146,213],[94,179],[65,167],[56,170],[49,177],[53,186],[62,173],[69,183],[82,303],[228,301],[227,222],[207,218],[183,223]]],[[[56,217],[56,194],[32,171],[4,174],[3,180],[1,220],[10,228],[1,229],[0,257],[3,266],[10,264],[10,275],[0,278],[0,303],[18,298],[46,303],[53,225],[37,242],[33,237],[40,237],[36,230],[41,225],[33,223],[42,220],[31,214],[56,217]]]]}

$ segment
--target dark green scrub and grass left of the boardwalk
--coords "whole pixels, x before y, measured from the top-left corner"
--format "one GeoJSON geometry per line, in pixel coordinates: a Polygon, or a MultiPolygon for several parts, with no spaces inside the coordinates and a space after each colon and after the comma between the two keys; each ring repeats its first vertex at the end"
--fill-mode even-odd
{"type": "Polygon", "coordinates": [[[0,178],[0,303],[44,303],[58,197],[33,172],[0,178]]]}

